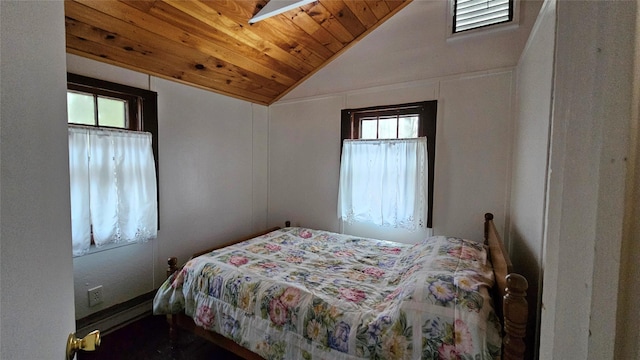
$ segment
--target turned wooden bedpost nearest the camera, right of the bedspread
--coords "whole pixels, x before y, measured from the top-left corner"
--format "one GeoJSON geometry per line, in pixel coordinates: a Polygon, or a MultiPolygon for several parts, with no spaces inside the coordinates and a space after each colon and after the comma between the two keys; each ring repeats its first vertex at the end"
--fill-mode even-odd
{"type": "Polygon", "coordinates": [[[527,333],[527,279],[515,273],[507,275],[507,294],[504,296],[504,360],[523,359],[524,337],[527,333]]]}

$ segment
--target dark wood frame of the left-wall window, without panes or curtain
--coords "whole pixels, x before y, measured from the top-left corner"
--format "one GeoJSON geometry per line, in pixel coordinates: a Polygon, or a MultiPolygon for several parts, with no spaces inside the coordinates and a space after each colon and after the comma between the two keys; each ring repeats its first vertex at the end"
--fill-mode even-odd
{"type": "MultiPolygon", "coordinates": [[[[111,81],[67,73],[67,90],[126,100],[128,111],[126,129],[151,133],[151,147],[156,165],[156,183],[159,184],[158,170],[158,93],[155,91],[122,85],[111,81]]],[[[97,108],[96,108],[97,109],[97,108]]],[[[96,110],[97,111],[97,110],[96,110]]],[[[97,126],[96,126],[97,127],[97,126]]],[[[160,186],[157,186],[160,203],[160,186]]],[[[158,207],[158,230],[160,213],[158,207]]]]}

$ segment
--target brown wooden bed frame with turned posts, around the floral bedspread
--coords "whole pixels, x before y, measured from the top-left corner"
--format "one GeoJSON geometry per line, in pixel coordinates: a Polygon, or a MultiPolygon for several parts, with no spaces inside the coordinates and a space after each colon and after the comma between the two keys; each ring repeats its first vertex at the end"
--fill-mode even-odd
{"type": "MultiPolygon", "coordinates": [[[[484,240],[489,247],[489,256],[493,264],[495,274],[495,285],[492,289],[492,297],[495,301],[496,312],[503,324],[504,337],[502,341],[502,359],[503,360],[522,360],[525,356],[525,342],[528,304],[526,300],[528,283],[520,274],[513,272],[513,264],[509,259],[509,255],[505,251],[504,244],[500,238],[495,224],[493,223],[493,214],[485,214],[484,222],[484,240]]],[[[286,226],[289,226],[287,221],[286,226]]],[[[277,230],[279,227],[270,228],[259,233],[216,246],[207,250],[200,251],[192,256],[200,256],[213,250],[233,245],[235,243],[249,240],[251,238],[267,234],[277,230]]],[[[169,268],[167,276],[173,274],[179,269],[177,258],[171,257],[168,260],[169,268]]],[[[185,314],[167,315],[170,325],[171,341],[175,342],[178,338],[179,330],[186,330],[194,333],[212,343],[227,349],[234,354],[247,360],[263,360],[263,358],[236,344],[234,341],[209,330],[205,330],[197,326],[193,320],[185,314]]]]}

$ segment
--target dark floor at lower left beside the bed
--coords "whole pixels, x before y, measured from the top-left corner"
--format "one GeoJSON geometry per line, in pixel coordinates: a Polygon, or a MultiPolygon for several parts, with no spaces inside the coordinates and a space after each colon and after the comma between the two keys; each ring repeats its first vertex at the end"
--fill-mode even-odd
{"type": "Polygon", "coordinates": [[[164,316],[148,316],[102,337],[95,352],[79,352],[78,360],[239,360],[192,334],[180,333],[173,348],[164,316]]]}

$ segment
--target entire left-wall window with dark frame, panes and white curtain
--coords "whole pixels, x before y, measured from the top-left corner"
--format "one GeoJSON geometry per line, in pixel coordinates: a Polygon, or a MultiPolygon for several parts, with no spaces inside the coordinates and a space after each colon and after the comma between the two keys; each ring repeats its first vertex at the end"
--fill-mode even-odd
{"type": "Polygon", "coordinates": [[[68,74],[73,253],[157,236],[157,94],[68,74]]]}

